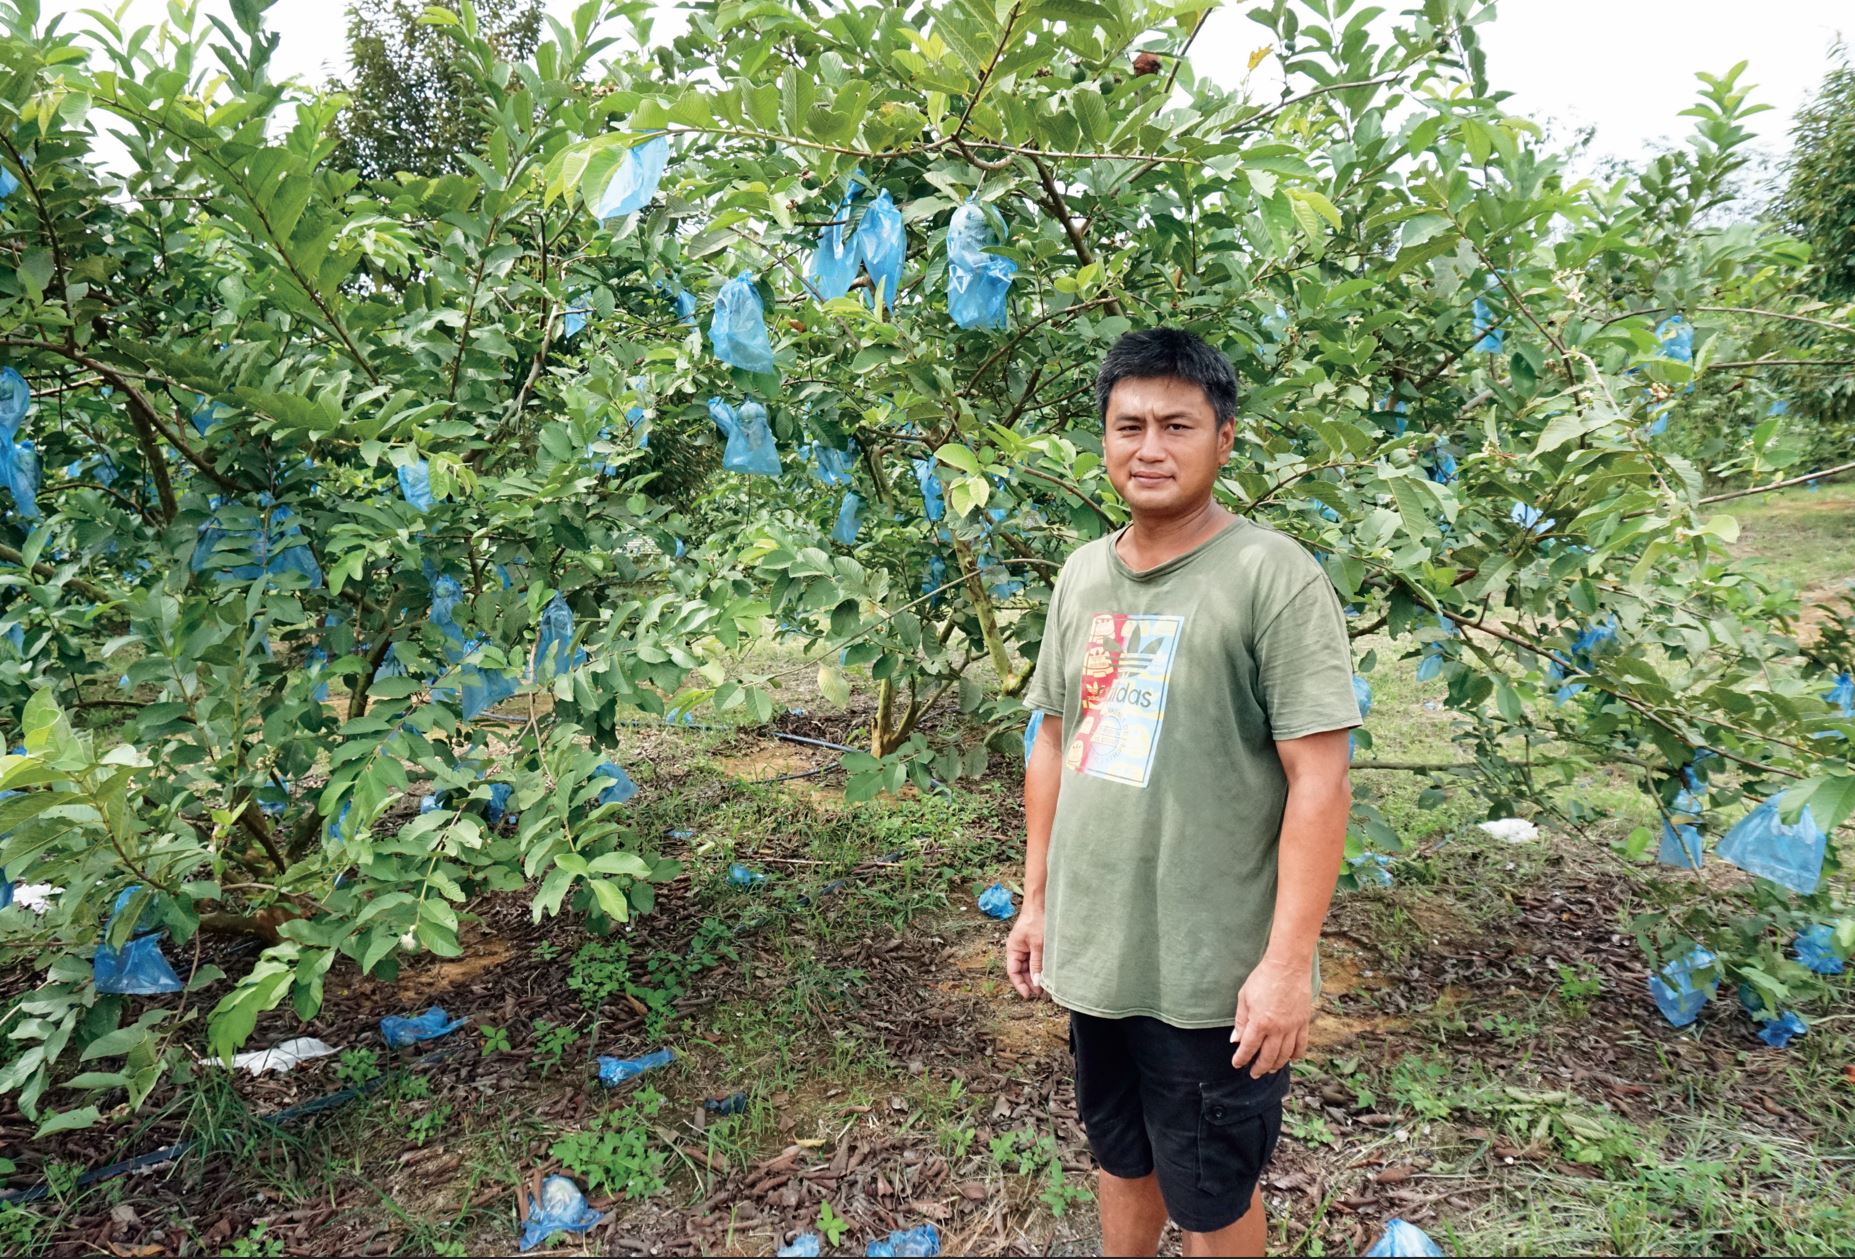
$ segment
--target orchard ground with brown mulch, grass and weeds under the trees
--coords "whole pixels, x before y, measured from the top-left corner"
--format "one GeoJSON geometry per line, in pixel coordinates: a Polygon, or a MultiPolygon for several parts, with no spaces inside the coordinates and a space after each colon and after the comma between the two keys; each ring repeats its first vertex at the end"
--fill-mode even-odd
{"type": "MultiPolygon", "coordinates": [[[[1810,599],[1848,575],[1855,486],[1731,510],[1740,549],[1810,599]]],[[[1451,760],[1441,684],[1419,684],[1399,643],[1356,649],[1371,647],[1369,757],[1451,760]]],[[[781,699],[805,710],[781,729],[827,740],[872,703],[781,699]]],[[[1005,925],[974,909],[1015,881],[1017,757],[953,797],[846,805],[831,753],[764,732],[646,729],[631,753],[640,829],[688,833],[664,838],[686,873],[634,929],[534,925],[521,896],[492,899],[462,959],[421,959],[397,985],[338,972],[312,1024],[276,1011],[252,1040],[313,1035],[338,1057],[260,1079],[202,1066],[141,1116],[41,1142],[9,1109],[7,1183],[54,1192],[0,1209],[0,1248],[493,1253],[547,1172],[607,1211],[555,1242],[569,1253],[770,1253],[820,1226],[827,1252],[861,1253],[924,1222],[955,1253],[1094,1248],[1063,1018],[1009,992],[1005,925]],[[733,886],[731,860],[768,881],[733,886]],[[382,1048],[382,1014],[434,1003],[471,1020],[441,1053],[382,1048]],[[594,1055],[666,1044],[672,1066],[594,1081],[594,1055]],[[345,1085],[362,1096],[260,1118],[345,1085]],[[742,1113],[703,1109],[736,1092],[742,1113]],[[152,1174],[74,1185],[189,1138],[152,1174]]],[[[1580,825],[1605,844],[1553,820],[1504,844],[1475,829],[1467,794],[1423,807],[1425,775],[1358,779],[1406,851],[1393,886],[1334,910],[1315,1048],[1265,1183],[1274,1252],[1358,1253],[1391,1216],[1454,1253],[1855,1248],[1855,1003],[1785,1051],[1729,994],[1670,1029],[1629,933],[1647,896],[1621,857],[1647,821],[1640,790],[1580,786],[1599,814],[1580,825]]]]}

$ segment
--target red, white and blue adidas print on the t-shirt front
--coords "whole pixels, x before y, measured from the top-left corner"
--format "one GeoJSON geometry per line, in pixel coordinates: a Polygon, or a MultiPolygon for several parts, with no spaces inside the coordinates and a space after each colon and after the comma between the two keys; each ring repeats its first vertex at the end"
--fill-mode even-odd
{"type": "Polygon", "coordinates": [[[1146,786],[1182,616],[1096,612],[1081,653],[1081,716],[1063,764],[1098,779],[1146,786]]]}

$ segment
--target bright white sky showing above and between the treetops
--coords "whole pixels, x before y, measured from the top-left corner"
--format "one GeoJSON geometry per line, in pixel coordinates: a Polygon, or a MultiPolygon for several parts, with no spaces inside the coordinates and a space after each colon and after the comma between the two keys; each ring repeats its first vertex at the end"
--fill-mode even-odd
{"type": "MultiPolygon", "coordinates": [[[[1363,0],[1360,0],[1363,4],[1363,0]]],[[[45,0],[46,15],[70,13],[100,0],[45,0]]],[[[102,0],[109,4],[109,0],[102,0]]],[[[226,0],[202,0],[224,13],[226,0]]],[[[284,39],[280,72],[323,80],[345,65],[345,19],[339,0],[278,0],[269,22],[284,39]]],[[[571,0],[549,0],[564,15],[571,0]]],[[[666,9],[670,6],[664,6],[666,9]]],[[[1224,0],[1193,46],[1193,63],[1219,82],[1241,72],[1248,52],[1263,43],[1263,28],[1245,17],[1248,6],[1224,0]]],[[[1388,4],[1397,9],[1402,6],[1388,4]]],[[[163,0],[128,0],[130,24],[158,22],[163,0]]],[[[675,17],[659,22],[659,35],[681,30],[675,17]]],[[[1849,0],[1504,0],[1499,17],[1482,26],[1488,76],[1514,96],[1510,113],[1551,122],[1553,135],[1569,139],[1580,124],[1595,124],[1592,158],[1640,158],[1657,143],[1679,143],[1694,119],[1679,117],[1697,93],[1695,70],[1725,72],[1746,59],[1744,82],[1753,98],[1775,106],[1749,121],[1759,148],[1773,158],[1788,148],[1790,117],[1829,69],[1840,32],[1855,35],[1849,0]]],[[[1273,59],[1256,72],[1267,83],[1273,59]]],[[[1274,95],[1273,85],[1265,91],[1274,95]]]]}

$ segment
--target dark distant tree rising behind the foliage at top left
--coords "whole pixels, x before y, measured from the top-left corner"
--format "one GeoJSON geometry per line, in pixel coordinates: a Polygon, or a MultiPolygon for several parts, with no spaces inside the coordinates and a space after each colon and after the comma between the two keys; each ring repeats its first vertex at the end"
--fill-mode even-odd
{"type": "MultiPolygon", "coordinates": [[[[460,0],[438,0],[458,13],[460,0]]],[[[421,20],[427,0],[352,0],[349,72],[330,82],[349,102],[336,115],[334,165],[364,180],[469,169],[488,134],[479,80],[454,41],[421,20]]],[[[534,54],[542,0],[477,0],[479,37],[503,61],[534,54]]]]}

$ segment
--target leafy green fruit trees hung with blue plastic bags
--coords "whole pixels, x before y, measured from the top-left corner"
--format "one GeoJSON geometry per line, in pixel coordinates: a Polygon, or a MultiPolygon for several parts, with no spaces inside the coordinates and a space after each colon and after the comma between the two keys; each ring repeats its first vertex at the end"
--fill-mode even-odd
{"type": "MultiPolygon", "coordinates": [[[[1781,790],[1799,827],[1855,805],[1848,619],[1805,636],[1727,562],[1670,436],[1844,328],[1797,310],[1801,245],[1703,226],[1736,72],[1593,187],[1501,109],[1477,0],[1261,6],[1273,100],[1195,72],[1191,6],[705,4],[649,45],[594,0],[510,65],[462,4],[429,22],[469,174],[362,182],[262,7],[163,45],[0,0],[0,864],[65,888],[7,910],[43,983],[0,1087],[89,1101],[48,1124],[139,1101],[200,1009],[228,1051],[338,962],[454,953],[482,892],[649,909],[627,723],[772,719],[768,636],[835,699],[872,679],[853,797],[981,771],[1063,554],[1122,521],[1093,369],[1152,323],[1248,380],[1226,501],[1462,714],[1439,784],[1579,820],[1625,764],[1677,853],[1781,790]],[[191,990],[98,992],[156,925],[191,990]],[[219,975],[200,931],[263,949],[219,975]]],[[[1352,844],[1397,836],[1362,805],[1352,844]]],[[[1727,933],[1668,886],[1657,953],[1809,994],[1783,949],[1827,890],[1751,884],[1727,933]]]]}

